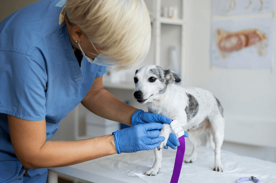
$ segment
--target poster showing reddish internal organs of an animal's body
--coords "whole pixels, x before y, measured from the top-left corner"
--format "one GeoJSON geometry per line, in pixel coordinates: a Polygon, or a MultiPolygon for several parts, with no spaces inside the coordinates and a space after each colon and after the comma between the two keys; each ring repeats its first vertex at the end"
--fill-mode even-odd
{"type": "Polygon", "coordinates": [[[213,21],[210,60],[226,68],[271,68],[274,19],[213,21]]]}

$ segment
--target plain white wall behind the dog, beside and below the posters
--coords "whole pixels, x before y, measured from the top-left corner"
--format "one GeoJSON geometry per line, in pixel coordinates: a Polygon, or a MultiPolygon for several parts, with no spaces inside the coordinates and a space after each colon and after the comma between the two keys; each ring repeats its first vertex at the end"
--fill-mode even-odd
{"type": "Polygon", "coordinates": [[[186,63],[188,85],[213,92],[225,114],[256,117],[276,124],[275,58],[272,69],[222,69],[210,66],[210,0],[190,4],[186,63]]]}

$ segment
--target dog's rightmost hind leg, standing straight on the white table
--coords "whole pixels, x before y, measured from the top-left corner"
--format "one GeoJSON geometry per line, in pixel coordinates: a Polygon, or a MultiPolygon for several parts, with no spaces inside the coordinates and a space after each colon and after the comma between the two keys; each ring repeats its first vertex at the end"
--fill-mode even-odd
{"type": "Polygon", "coordinates": [[[223,171],[222,163],[221,163],[221,147],[224,139],[224,118],[218,114],[219,116],[215,117],[215,119],[210,120],[211,122],[211,132],[214,136],[215,142],[215,164],[214,171],[223,171]]]}

